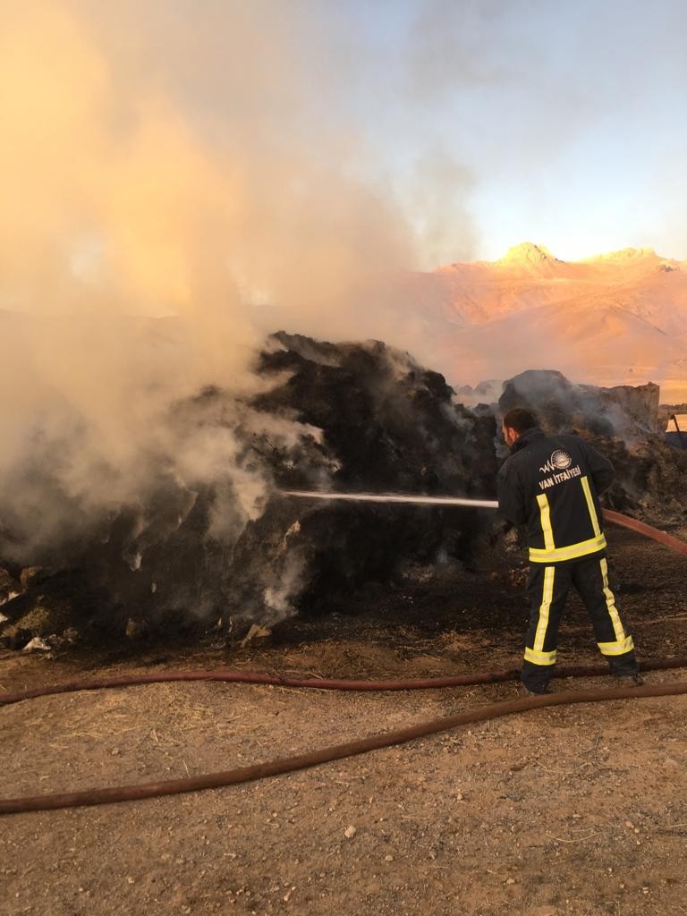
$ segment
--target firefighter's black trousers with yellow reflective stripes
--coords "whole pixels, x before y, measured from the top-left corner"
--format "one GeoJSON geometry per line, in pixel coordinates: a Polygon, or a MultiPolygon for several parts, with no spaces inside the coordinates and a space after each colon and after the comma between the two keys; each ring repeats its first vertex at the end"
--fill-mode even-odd
{"type": "Polygon", "coordinates": [[[542,690],[556,664],[558,627],[571,585],[580,594],[592,618],[596,643],[611,670],[618,675],[636,674],[634,644],[608,584],[605,554],[582,560],[529,567],[528,595],[531,602],[525,660],[520,675],[529,690],[542,690]]]}

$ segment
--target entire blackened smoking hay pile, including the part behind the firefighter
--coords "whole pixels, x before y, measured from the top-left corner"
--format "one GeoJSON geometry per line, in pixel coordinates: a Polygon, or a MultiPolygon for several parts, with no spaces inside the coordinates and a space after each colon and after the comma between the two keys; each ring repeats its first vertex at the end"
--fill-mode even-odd
{"type": "Polygon", "coordinates": [[[231,474],[220,467],[197,483],[160,463],[136,505],[30,551],[0,507],[5,644],[195,638],[220,620],[234,637],[251,623],[345,606],[409,563],[488,569],[503,530],[488,511],[279,491],[493,498],[498,421],[515,405],[538,410],[548,431],[577,431],[613,460],[608,505],[684,524],[687,453],[658,435],[656,387],[577,387],[559,373],[529,372],[506,384],[497,405],[466,409],[442,376],[385,344],[286,333],[270,338],[256,371],[268,384],[249,401],[210,388],[166,418],[186,441],[231,435],[231,474]]]}

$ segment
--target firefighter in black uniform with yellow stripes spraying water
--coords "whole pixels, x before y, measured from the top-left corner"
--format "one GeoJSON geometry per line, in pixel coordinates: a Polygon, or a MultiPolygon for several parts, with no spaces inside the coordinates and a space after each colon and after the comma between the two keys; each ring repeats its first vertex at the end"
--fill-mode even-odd
{"type": "Polygon", "coordinates": [[[511,454],[498,474],[498,507],[525,526],[531,602],[520,680],[548,693],[556,664],[558,627],[571,585],[583,599],[596,642],[623,684],[641,684],[632,636],[608,583],[598,494],[613,464],[578,436],[547,436],[529,410],[508,410],[502,431],[511,454]]]}

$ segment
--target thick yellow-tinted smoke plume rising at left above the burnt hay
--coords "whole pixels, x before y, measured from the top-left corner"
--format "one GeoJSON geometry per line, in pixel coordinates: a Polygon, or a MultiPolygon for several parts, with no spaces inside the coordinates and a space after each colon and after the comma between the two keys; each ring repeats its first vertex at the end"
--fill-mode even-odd
{"type": "Polygon", "coordinates": [[[269,488],[232,431],[265,333],[408,343],[385,290],[415,238],[366,171],[330,50],[316,5],[5,0],[5,558],[64,561],[125,507],[136,566],[210,483],[230,539],[269,488]],[[235,418],[180,426],[175,405],[210,385],[235,418]],[[176,508],[160,529],[161,489],[176,508]]]}

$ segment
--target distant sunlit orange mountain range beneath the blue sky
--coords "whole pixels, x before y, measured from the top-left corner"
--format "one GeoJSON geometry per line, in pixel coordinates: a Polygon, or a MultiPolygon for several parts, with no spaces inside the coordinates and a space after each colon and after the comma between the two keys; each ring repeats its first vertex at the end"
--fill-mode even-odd
{"type": "Polygon", "coordinates": [[[562,261],[526,242],[497,261],[414,273],[402,300],[421,318],[421,358],[454,384],[555,368],[687,398],[687,262],[651,248],[562,261]]]}

